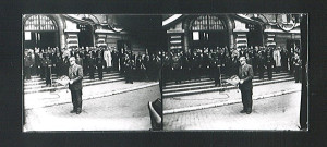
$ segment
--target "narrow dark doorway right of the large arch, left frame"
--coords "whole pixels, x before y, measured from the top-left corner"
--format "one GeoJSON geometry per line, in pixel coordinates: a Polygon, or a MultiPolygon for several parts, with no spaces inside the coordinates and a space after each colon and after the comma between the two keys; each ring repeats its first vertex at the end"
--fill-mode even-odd
{"type": "Polygon", "coordinates": [[[78,24],[78,47],[93,47],[93,28],[89,24],[78,24]]]}

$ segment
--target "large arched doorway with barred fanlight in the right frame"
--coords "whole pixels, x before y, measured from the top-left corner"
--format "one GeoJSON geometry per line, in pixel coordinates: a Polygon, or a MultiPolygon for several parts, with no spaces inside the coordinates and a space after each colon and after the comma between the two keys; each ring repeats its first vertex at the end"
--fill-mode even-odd
{"type": "Polygon", "coordinates": [[[191,51],[209,51],[228,47],[228,28],[225,22],[214,15],[202,15],[191,21],[191,51]]]}

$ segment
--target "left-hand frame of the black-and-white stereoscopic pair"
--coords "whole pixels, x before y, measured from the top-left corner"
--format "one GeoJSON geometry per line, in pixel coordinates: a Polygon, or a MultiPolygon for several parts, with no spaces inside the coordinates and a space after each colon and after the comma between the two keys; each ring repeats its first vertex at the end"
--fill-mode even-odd
{"type": "Polygon", "coordinates": [[[161,20],[23,14],[23,132],[162,130],[161,20]]]}

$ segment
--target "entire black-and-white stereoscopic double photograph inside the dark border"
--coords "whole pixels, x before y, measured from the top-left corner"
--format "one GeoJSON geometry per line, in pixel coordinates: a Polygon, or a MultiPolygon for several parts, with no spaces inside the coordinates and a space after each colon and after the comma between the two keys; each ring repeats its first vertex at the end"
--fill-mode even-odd
{"type": "Polygon", "coordinates": [[[23,14],[23,132],[307,131],[307,17],[23,14]]]}

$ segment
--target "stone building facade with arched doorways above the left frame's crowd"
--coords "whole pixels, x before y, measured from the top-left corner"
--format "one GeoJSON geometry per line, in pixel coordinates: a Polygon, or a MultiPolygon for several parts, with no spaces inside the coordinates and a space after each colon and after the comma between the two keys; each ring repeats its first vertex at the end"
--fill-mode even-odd
{"type": "Polygon", "coordinates": [[[130,37],[119,17],[108,14],[25,14],[23,48],[112,47],[144,52],[146,47],[130,37]]]}

